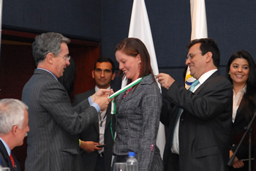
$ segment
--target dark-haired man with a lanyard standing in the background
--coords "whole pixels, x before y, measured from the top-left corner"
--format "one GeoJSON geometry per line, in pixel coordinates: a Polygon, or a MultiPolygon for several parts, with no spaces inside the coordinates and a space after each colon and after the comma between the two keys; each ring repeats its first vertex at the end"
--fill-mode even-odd
{"type": "MultiPolygon", "coordinates": [[[[84,99],[87,99],[98,91],[99,88],[110,89],[110,81],[114,80],[116,76],[115,64],[110,58],[99,58],[95,62],[94,70],[91,74],[95,80],[96,86],[89,91],[76,95],[73,105],[77,105],[84,99]]],[[[110,110],[111,105],[109,104],[108,109],[104,111],[105,115],[101,115],[98,121],[91,124],[88,129],[80,134],[80,140],[86,141],[84,142],[85,151],[82,153],[83,167],[86,171],[111,170],[113,136],[116,131],[116,117],[115,115],[111,115],[110,110]],[[106,144],[106,146],[98,148],[95,145],[98,145],[99,142],[106,144]]]]}

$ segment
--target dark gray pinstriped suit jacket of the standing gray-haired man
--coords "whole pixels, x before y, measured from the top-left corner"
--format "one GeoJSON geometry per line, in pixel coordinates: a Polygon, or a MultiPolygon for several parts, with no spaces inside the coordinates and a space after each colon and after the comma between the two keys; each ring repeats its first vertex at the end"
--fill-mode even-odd
{"type": "Polygon", "coordinates": [[[73,108],[61,83],[42,69],[24,86],[22,101],[30,128],[25,170],[82,170],[78,134],[97,121],[97,110],[87,99],[73,108]]]}

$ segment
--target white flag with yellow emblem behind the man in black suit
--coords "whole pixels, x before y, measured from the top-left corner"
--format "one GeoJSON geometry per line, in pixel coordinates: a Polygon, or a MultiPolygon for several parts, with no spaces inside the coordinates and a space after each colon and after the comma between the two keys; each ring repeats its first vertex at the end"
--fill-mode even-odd
{"type": "MultiPolygon", "coordinates": [[[[191,40],[207,38],[207,21],[206,21],[206,4],[205,0],[190,0],[191,12],[191,40]]],[[[195,78],[190,75],[189,67],[187,68],[185,87],[188,89],[195,78]]]]}

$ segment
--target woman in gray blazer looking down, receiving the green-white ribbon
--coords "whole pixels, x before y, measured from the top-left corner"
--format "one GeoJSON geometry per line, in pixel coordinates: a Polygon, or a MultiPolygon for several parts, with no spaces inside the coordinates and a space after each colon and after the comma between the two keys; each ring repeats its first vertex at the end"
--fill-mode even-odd
{"type": "Polygon", "coordinates": [[[148,50],[140,39],[127,38],[116,46],[120,72],[132,83],[142,80],[116,96],[116,142],[113,165],[125,162],[130,151],[138,159],[138,170],[163,170],[156,145],[162,109],[160,93],[151,68],[148,50]]]}

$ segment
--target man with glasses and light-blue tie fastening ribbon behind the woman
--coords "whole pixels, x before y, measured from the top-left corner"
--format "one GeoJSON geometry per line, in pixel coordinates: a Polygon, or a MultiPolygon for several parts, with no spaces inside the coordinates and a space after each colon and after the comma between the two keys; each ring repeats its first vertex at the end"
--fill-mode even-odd
{"type": "Polygon", "coordinates": [[[219,75],[219,48],[213,39],[195,39],[187,47],[186,64],[198,83],[192,85],[193,91],[170,75],[157,76],[172,104],[161,114],[167,126],[165,170],[225,171],[232,135],[232,86],[219,75]]]}

